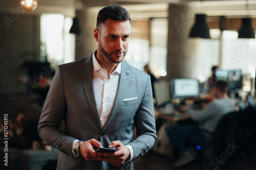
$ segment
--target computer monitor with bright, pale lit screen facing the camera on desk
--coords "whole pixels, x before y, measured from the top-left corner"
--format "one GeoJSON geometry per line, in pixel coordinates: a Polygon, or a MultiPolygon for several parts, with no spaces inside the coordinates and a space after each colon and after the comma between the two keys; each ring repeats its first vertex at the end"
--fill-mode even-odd
{"type": "Polygon", "coordinates": [[[173,98],[199,98],[198,79],[172,79],[171,91],[173,98]]]}

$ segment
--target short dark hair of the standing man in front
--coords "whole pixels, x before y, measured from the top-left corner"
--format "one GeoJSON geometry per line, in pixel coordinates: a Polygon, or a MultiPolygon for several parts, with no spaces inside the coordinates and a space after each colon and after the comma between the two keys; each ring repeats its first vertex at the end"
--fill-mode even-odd
{"type": "Polygon", "coordinates": [[[97,28],[107,19],[113,19],[122,22],[129,20],[130,23],[132,23],[129,12],[119,5],[106,6],[99,11],[97,16],[97,28]]]}

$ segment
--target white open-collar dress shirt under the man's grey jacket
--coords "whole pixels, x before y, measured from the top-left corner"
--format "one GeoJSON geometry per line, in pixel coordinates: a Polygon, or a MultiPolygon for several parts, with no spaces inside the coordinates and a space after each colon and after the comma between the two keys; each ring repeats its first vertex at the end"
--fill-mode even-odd
{"type": "MultiPolygon", "coordinates": [[[[99,62],[95,57],[95,53],[97,53],[97,50],[94,51],[92,56],[93,85],[94,85],[94,93],[96,97],[95,101],[96,101],[96,105],[97,105],[97,109],[100,117],[100,122],[102,127],[104,127],[106,120],[108,120],[110,112],[115,103],[122,63],[119,63],[117,65],[116,69],[110,75],[110,78],[108,78],[107,76],[108,71],[106,71],[101,67],[101,65],[99,64],[99,62]]],[[[77,141],[78,141],[77,139],[74,140],[72,144],[73,155],[74,155],[73,149],[77,141]]],[[[104,146],[104,147],[108,147],[108,146],[104,146]]],[[[125,147],[129,148],[130,150],[130,153],[131,153],[130,161],[131,161],[134,157],[133,147],[132,145],[126,145],[125,147]]]]}

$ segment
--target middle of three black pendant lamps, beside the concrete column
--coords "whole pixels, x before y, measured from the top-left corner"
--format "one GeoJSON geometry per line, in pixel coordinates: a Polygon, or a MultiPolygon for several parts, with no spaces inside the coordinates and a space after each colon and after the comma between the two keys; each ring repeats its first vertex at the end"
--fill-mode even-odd
{"type": "Polygon", "coordinates": [[[196,14],[196,22],[189,34],[190,38],[210,38],[209,27],[206,22],[205,14],[196,14]]]}

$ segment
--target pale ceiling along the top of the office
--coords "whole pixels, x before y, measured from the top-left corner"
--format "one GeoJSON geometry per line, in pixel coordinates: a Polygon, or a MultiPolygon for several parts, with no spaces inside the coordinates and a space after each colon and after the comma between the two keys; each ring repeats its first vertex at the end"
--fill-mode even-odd
{"type": "MultiPolygon", "coordinates": [[[[103,6],[121,5],[136,18],[167,17],[168,5],[187,5],[196,13],[206,13],[208,16],[237,17],[249,15],[256,17],[256,0],[37,0],[38,6],[35,11],[26,14],[60,13],[74,17],[76,9],[89,9],[98,11],[103,6]],[[77,5],[75,3],[77,2],[77,5]],[[246,10],[246,2],[248,9],[246,10]]],[[[12,13],[17,11],[19,0],[0,0],[0,12],[12,13]]]]}

